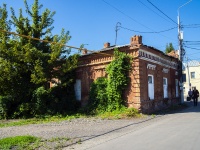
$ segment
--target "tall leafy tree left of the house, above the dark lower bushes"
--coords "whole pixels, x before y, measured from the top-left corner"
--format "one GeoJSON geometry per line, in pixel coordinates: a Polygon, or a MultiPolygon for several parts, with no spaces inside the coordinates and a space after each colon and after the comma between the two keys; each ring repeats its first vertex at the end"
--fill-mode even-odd
{"type": "Polygon", "coordinates": [[[33,93],[41,86],[46,88],[53,78],[62,80],[64,87],[71,85],[74,76],[67,74],[72,74],[77,65],[77,55],[69,57],[70,49],[65,47],[71,38],[69,32],[62,29],[60,35],[52,34],[55,12],[49,9],[42,12],[39,0],[34,1],[31,9],[26,0],[24,4],[27,16],[22,9],[17,16],[11,8],[11,20],[7,18],[6,5],[0,8],[2,30],[10,31],[13,25],[17,34],[31,37],[0,32],[0,95],[12,96],[18,110],[22,104],[30,103],[33,93]]]}

